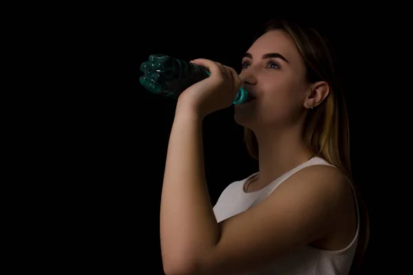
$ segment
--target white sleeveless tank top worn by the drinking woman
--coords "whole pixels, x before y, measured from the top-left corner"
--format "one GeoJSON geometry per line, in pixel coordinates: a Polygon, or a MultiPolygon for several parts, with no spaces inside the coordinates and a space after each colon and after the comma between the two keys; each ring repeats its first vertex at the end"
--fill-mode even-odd
{"type": "MultiPolygon", "coordinates": [[[[288,171],[281,177],[275,179],[268,186],[255,192],[245,192],[244,184],[247,179],[257,175],[257,173],[230,184],[220,195],[217,203],[213,208],[215,217],[218,222],[228,219],[229,217],[244,212],[260,203],[275,190],[284,180],[301,170],[302,168],[312,165],[328,165],[324,159],[313,157],[304,164],[301,164],[288,171]]],[[[354,189],[353,189],[354,192],[354,189]]],[[[354,192],[354,198],[355,198],[354,192]]],[[[288,254],[282,259],[274,261],[265,267],[250,272],[248,274],[269,275],[269,274],[288,274],[288,275],[344,275],[350,272],[350,267],[354,258],[359,239],[359,206],[357,205],[357,230],[351,243],[342,250],[321,250],[310,245],[304,245],[295,252],[288,254]]]]}

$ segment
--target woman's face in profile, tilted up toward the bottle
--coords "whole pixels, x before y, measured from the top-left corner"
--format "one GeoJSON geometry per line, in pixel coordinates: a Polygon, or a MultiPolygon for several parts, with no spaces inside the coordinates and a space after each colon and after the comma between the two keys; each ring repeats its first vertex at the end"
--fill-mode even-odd
{"type": "Polygon", "coordinates": [[[255,96],[251,102],[235,105],[235,121],[255,129],[284,126],[299,118],[311,92],[306,67],[295,41],[282,30],[262,35],[242,59],[240,78],[255,96]]]}

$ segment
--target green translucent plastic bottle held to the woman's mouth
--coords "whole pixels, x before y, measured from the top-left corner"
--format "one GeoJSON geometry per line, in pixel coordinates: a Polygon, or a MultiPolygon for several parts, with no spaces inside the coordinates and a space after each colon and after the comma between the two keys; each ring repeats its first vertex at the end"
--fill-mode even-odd
{"type": "MultiPolygon", "coordinates": [[[[153,54],[140,65],[140,84],[153,94],[172,98],[178,96],[191,85],[209,77],[206,68],[162,54],[153,54]]],[[[248,98],[248,92],[240,87],[233,104],[241,104],[248,98]]]]}

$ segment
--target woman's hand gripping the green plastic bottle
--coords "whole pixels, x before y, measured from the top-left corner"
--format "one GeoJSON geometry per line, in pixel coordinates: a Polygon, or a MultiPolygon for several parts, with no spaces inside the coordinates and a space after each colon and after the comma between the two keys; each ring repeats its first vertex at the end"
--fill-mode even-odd
{"type": "Polygon", "coordinates": [[[237,72],[208,59],[195,59],[191,63],[207,68],[211,76],[195,83],[180,95],[177,111],[189,110],[203,119],[214,111],[231,106],[241,86],[237,72]]]}

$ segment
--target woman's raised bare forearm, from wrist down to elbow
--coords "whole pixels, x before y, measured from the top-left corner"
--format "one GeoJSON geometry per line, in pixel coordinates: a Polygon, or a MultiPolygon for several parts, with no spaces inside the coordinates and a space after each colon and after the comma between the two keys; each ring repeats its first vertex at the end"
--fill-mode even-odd
{"type": "Polygon", "coordinates": [[[177,109],[160,207],[165,272],[181,274],[195,268],[192,264],[213,248],[219,232],[204,173],[202,119],[196,113],[177,109]]]}

